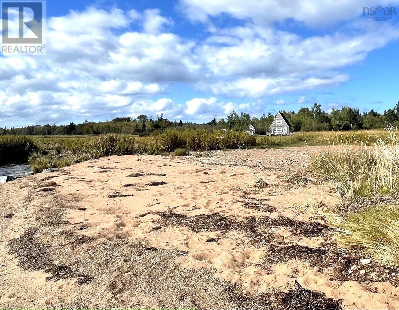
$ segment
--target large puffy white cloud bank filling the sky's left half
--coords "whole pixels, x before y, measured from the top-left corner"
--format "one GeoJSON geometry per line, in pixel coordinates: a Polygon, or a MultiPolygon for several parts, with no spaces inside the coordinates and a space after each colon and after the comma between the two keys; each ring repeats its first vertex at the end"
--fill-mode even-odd
{"type": "Polygon", "coordinates": [[[88,8],[49,18],[47,24],[47,56],[0,57],[0,114],[7,125],[104,120],[134,107],[167,114],[172,99],[146,98],[164,93],[169,82],[199,74],[194,43],[160,33],[170,22],[159,10],[88,8]],[[151,18],[158,22],[148,24],[151,18]],[[130,31],[131,22],[144,22],[154,34],[130,31]]]}

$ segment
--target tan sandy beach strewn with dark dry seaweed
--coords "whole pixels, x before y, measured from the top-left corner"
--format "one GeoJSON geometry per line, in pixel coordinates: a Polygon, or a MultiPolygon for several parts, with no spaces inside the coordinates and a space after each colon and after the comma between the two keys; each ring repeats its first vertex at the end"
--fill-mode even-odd
{"type": "Polygon", "coordinates": [[[399,308],[395,272],[301,207],[340,202],[318,151],[112,156],[0,184],[0,307],[399,308]]]}

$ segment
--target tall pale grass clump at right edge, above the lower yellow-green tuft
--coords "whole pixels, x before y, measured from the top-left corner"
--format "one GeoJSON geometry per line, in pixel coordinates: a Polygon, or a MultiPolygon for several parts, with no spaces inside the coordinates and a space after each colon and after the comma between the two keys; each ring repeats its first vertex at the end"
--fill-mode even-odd
{"type": "Polygon", "coordinates": [[[313,156],[314,172],[337,184],[339,194],[352,197],[387,195],[399,191],[399,140],[397,129],[387,128],[388,136],[375,134],[375,142],[350,146],[338,140],[330,151],[313,156]]]}

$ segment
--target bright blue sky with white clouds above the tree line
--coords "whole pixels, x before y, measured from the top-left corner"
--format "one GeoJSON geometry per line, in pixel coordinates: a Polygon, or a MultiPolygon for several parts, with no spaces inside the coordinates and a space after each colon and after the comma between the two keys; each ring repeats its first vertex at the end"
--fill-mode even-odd
{"type": "Polygon", "coordinates": [[[47,55],[0,56],[0,127],[383,112],[399,101],[398,38],[399,1],[47,1],[47,55]],[[379,4],[398,15],[362,16],[379,4]]]}

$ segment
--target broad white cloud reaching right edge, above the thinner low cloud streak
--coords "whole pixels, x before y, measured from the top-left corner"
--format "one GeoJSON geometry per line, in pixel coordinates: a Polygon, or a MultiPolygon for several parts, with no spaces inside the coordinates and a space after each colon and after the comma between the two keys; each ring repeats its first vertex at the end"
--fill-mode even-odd
{"type": "Polygon", "coordinates": [[[214,33],[216,39],[231,38],[231,45],[203,44],[196,53],[203,65],[218,77],[276,77],[340,69],[362,61],[369,51],[399,38],[399,29],[390,24],[359,22],[353,27],[358,30],[356,35],[336,32],[303,39],[292,33],[248,24],[214,33]]]}

